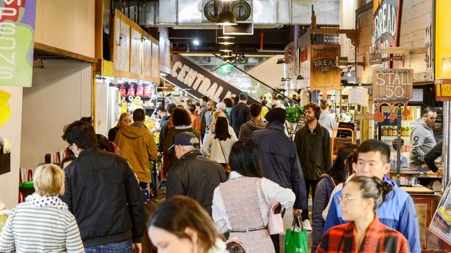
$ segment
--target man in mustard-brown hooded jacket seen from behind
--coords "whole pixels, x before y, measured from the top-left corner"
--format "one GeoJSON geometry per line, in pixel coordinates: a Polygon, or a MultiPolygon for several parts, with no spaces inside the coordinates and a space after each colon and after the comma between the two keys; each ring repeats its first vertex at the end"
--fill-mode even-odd
{"type": "Polygon", "coordinates": [[[146,189],[151,182],[150,161],[157,158],[157,144],[151,131],[144,125],[145,119],[146,112],[136,109],[133,112],[133,124],[121,127],[114,140],[121,149],[122,156],[130,162],[142,189],[146,189]]]}

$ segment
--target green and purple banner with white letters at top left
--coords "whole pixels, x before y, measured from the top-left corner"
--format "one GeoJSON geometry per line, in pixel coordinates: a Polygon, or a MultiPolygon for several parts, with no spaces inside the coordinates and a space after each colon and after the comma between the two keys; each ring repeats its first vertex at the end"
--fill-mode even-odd
{"type": "Polygon", "coordinates": [[[31,86],[35,0],[0,0],[0,85],[31,86]]]}

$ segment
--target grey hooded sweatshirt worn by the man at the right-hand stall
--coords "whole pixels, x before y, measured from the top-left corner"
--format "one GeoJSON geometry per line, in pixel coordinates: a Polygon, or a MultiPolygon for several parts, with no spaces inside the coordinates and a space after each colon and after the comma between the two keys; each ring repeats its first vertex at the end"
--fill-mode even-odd
{"type": "Polygon", "coordinates": [[[410,143],[410,164],[423,164],[425,162],[425,154],[437,144],[432,127],[429,127],[422,119],[418,119],[412,125],[410,143]]]}

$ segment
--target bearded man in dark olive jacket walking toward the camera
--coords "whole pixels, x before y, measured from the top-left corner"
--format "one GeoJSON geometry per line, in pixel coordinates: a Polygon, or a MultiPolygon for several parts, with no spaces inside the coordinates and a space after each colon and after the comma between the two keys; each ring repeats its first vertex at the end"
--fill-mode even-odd
{"type": "MultiPolygon", "coordinates": [[[[304,110],[307,124],[296,132],[294,142],[298,149],[300,167],[303,168],[307,196],[312,187],[312,200],[314,200],[316,185],[318,185],[321,175],[332,166],[330,134],[318,123],[321,109],[317,104],[306,104],[304,110]]],[[[303,210],[302,219],[305,221],[304,227],[311,230],[308,208],[303,210]]]]}

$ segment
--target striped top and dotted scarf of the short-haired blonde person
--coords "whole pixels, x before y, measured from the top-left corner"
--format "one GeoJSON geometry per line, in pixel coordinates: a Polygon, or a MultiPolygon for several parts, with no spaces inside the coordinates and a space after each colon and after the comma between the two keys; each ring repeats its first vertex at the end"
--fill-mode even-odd
{"type": "Polygon", "coordinates": [[[58,197],[33,194],[12,209],[0,252],[85,252],[75,217],[58,197]]]}

